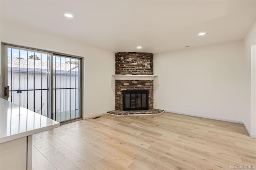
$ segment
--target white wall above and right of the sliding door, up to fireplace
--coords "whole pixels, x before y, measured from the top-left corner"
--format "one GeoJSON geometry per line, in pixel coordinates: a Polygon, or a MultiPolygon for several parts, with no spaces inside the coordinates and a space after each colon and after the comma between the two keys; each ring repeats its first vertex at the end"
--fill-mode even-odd
{"type": "Polygon", "coordinates": [[[2,42],[84,57],[84,118],[115,108],[114,52],[6,20],[0,24],[2,42]]]}

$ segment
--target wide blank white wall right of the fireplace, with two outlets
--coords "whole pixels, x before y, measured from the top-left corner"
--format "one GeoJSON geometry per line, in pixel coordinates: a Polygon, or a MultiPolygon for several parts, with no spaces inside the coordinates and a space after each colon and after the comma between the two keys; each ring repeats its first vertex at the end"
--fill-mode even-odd
{"type": "Polygon", "coordinates": [[[154,108],[242,123],[242,63],[242,40],[154,54],[154,108]]]}

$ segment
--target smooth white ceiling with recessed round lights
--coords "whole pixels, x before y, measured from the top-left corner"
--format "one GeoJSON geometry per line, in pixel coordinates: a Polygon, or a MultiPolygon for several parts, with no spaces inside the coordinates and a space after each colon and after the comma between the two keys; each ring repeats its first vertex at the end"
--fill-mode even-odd
{"type": "Polygon", "coordinates": [[[0,0],[0,6],[1,20],[114,52],[159,53],[242,40],[256,20],[255,0],[0,0]],[[206,36],[198,37],[202,31],[206,36]]]}

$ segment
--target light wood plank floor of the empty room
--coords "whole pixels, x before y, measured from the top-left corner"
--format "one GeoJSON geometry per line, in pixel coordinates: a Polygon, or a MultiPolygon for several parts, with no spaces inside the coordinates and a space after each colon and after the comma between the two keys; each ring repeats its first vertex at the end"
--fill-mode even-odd
{"type": "Polygon", "coordinates": [[[244,125],[174,113],[102,115],[33,136],[34,170],[256,169],[244,125]]]}

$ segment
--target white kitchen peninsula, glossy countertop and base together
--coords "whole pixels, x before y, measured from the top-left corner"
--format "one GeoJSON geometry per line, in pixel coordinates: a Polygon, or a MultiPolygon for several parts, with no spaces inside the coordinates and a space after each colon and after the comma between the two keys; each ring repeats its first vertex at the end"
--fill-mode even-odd
{"type": "Polygon", "coordinates": [[[0,169],[32,169],[32,135],[60,123],[0,98],[0,169]]]}

